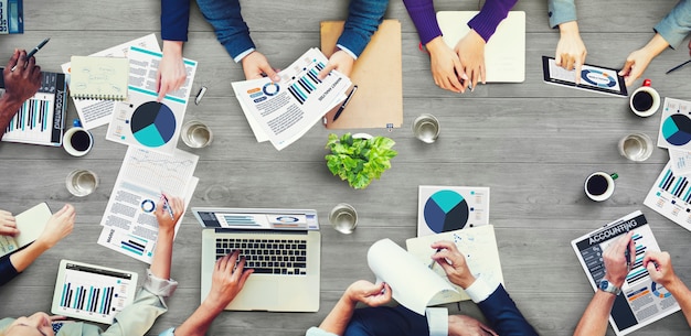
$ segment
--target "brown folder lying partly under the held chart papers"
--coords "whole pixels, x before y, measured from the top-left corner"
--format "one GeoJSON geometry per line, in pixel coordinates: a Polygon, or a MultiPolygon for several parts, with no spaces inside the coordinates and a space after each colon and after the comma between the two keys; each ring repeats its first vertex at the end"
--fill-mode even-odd
{"type": "MultiPolygon", "coordinates": [[[[343,21],[321,22],[321,52],[330,57],[343,21]]],[[[358,91],[339,118],[340,105],[325,116],[328,129],[400,128],[403,123],[401,22],[384,20],[350,74],[358,91]]]]}

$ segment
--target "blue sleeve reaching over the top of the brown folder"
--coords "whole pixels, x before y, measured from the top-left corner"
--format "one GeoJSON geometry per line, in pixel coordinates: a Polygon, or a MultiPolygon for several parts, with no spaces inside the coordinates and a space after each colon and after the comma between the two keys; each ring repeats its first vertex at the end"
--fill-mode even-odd
{"type": "Polygon", "coordinates": [[[386,6],[389,0],[351,0],[348,20],[337,44],[348,48],[355,57],[360,56],[382,23],[386,6]]]}

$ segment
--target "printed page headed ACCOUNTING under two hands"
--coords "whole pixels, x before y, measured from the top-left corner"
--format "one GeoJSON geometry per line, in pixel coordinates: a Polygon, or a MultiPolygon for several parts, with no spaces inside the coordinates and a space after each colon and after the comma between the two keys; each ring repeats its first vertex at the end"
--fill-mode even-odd
{"type": "Polygon", "coordinates": [[[644,265],[646,251],[659,252],[660,247],[652,236],[646,216],[640,212],[631,213],[571,241],[593,290],[597,291],[599,281],[605,277],[603,253],[608,246],[629,231],[634,232],[636,256],[631,257],[634,259],[631,270],[626,275],[621,293],[616,296],[609,314],[609,323],[615,334],[619,336],[680,310],[674,296],[665,286],[652,281],[644,265]]]}

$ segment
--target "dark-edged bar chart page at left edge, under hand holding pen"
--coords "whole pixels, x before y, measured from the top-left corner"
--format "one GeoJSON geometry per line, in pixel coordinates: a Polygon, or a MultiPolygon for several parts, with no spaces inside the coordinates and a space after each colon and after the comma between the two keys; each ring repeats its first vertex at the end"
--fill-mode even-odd
{"type": "MultiPolygon", "coordinates": [[[[0,67],[0,71],[3,68],[0,67]]],[[[4,82],[0,76],[0,96],[4,82]]],[[[60,147],[65,130],[67,83],[60,73],[41,73],[41,87],[26,99],[4,130],[2,141],[60,147]]]]}

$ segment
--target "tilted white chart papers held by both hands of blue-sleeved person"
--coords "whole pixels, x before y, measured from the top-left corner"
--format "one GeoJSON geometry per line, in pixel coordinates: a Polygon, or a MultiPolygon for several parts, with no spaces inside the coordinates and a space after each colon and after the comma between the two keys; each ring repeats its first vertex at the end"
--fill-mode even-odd
{"type": "Polygon", "coordinates": [[[233,83],[235,97],[257,141],[269,140],[281,150],[302,137],[344,98],[351,82],[332,71],[325,79],[317,75],[327,57],[310,48],[286,69],[279,83],[269,78],[233,83]]]}

